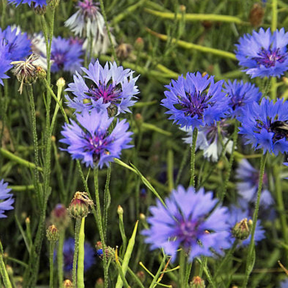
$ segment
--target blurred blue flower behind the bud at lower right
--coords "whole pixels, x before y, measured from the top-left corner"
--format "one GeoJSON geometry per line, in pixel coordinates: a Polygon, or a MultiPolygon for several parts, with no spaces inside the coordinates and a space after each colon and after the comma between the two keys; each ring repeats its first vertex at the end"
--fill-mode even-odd
{"type": "MultiPolygon", "coordinates": [[[[243,211],[240,207],[236,207],[234,205],[230,206],[230,217],[228,217],[228,222],[230,225],[230,241],[231,244],[234,242],[235,238],[232,234],[232,228],[235,226],[236,223],[240,222],[241,220],[247,218],[247,220],[249,221],[251,219],[251,217],[249,217],[249,211],[243,211]]],[[[252,220],[252,219],[251,219],[252,220]]],[[[254,241],[255,241],[255,245],[258,244],[259,241],[263,240],[265,237],[265,230],[263,229],[263,227],[261,226],[261,221],[258,219],[256,222],[256,228],[255,228],[255,234],[254,234],[254,241]]],[[[247,246],[249,245],[251,240],[251,234],[249,235],[249,237],[245,240],[242,240],[241,245],[242,246],[247,246]]]]}

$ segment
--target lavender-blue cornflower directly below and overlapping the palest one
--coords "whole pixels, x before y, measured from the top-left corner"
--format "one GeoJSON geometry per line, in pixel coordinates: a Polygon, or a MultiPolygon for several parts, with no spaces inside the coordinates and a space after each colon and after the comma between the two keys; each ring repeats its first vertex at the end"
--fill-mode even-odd
{"type": "Polygon", "coordinates": [[[73,120],[71,124],[65,123],[61,134],[65,137],[60,142],[69,145],[67,149],[73,159],[81,159],[86,167],[95,165],[100,168],[114,158],[120,158],[121,150],[130,148],[128,143],[132,140],[133,133],[127,132],[129,123],[126,120],[117,120],[115,128],[108,133],[108,128],[113,121],[107,111],[83,111],[76,115],[80,126],[73,120]]]}

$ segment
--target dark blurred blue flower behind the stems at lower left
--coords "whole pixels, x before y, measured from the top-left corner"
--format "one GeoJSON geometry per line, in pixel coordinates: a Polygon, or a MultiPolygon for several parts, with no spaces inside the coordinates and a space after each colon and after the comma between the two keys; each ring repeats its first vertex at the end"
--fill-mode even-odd
{"type": "MultiPolygon", "coordinates": [[[[63,270],[69,272],[73,267],[74,238],[68,238],[63,245],[63,270]]],[[[54,261],[56,257],[54,255],[54,261]]],[[[85,241],[84,243],[84,271],[88,270],[95,263],[94,248],[85,241]]]]}

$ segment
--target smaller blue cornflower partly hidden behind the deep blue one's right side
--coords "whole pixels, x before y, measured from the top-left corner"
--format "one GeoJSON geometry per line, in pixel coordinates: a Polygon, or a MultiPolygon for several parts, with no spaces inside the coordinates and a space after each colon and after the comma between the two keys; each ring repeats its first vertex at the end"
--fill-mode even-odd
{"type": "Polygon", "coordinates": [[[232,117],[240,116],[245,105],[250,105],[253,101],[258,102],[262,96],[258,87],[249,82],[244,84],[242,80],[240,82],[234,80],[233,83],[228,80],[228,83],[225,83],[224,91],[230,99],[229,107],[232,117]]]}

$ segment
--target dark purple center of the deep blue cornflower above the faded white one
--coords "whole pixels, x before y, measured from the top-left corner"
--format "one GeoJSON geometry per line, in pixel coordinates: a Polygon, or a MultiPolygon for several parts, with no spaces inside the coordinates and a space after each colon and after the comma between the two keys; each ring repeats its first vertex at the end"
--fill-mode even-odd
{"type": "Polygon", "coordinates": [[[211,97],[208,97],[206,93],[195,92],[194,95],[187,93],[186,97],[178,97],[179,110],[184,111],[185,116],[190,116],[191,118],[197,115],[198,119],[202,119],[204,110],[215,104],[215,102],[210,101],[211,97]]]}

